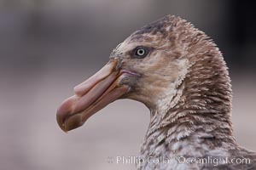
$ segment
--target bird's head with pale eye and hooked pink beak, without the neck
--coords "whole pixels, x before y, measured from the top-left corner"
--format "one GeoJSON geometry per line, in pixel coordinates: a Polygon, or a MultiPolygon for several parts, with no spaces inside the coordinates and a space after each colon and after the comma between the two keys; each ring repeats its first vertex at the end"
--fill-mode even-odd
{"type": "Polygon", "coordinates": [[[113,49],[107,65],[74,88],[57,111],[59,126],[65,132],[80,127],[117,99],[135,99],[149,109],[169,105],[193,65],[191,44],[200,38],[205,38],[201,31],[171,15],[143,26],[113,49]]]}

